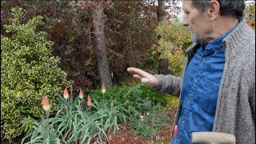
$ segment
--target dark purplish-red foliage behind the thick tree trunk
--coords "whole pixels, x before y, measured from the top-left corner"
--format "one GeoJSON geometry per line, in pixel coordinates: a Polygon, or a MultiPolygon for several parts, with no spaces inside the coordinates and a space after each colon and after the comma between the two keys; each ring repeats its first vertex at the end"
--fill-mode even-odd
{"type": "MultiPolygon", "coordinates": [[[[157,42],[154,34],[154,27],[158,24],[155,1],[113,0],[104,3],[106,52],[114,84],[130,78],[129,74],[123,73],[127,66],[139,66],[146,70],[155,67],[150,55],[150,46],[157,42]]],[[[168,2],[172,4],[166,5],[166,8],[178,10],[177,1],[168,2]]],[[[74,81],[75,91],[78,88],[88,91],[100,83],[92,37],[91,10],[94,6],[91,5],[92,2],[88,1],[3,0],[1,34],[6,34],[3,25],[8,23],[11,7],[22,7],[25,13],[23,22],[42,15],[44,24],[38,30],[46,31],[47,38],[54,42],[52,54],[61,58],[59,66],[68,74],[67,79],[74,81]]],[[[168,17],[174,16],[166,15],[168,17]]]]}

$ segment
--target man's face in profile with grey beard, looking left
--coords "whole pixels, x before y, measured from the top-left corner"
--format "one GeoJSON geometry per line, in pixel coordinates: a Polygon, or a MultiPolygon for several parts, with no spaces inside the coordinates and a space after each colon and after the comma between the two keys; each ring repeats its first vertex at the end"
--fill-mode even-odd
{"type": "Polygon", "coordinates": [[[207,34],[210,34],[210,22],[205,12],[198,11],[193,5],[191,0],[184,0],[182,3],[183,21],[182,24],[189,26],[192,30],[193,42],[200,42],[205,45],[209,42],[207,34]]]}

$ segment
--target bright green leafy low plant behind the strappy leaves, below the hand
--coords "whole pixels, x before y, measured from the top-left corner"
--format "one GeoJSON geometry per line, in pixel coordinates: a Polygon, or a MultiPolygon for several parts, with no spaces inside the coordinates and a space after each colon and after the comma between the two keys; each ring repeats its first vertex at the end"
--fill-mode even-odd
{"type": "MultiPolygon", "coordinates": [[[[98,102],[102,101],[102,91],[90,90],[90,96],[95,98],[98,102]]],[[[117,105],[125,104],[124,107],[128,109],[129,106],[134,107],[135,110],[141,112],[147,110],[150,105],[159,103],[161,106],[166,105],[166,98],[164,94],[154,91],[150,86],[144,83],[114,86],[111,89],[106,88],[106,99],[113,99],[117,105]]]]}

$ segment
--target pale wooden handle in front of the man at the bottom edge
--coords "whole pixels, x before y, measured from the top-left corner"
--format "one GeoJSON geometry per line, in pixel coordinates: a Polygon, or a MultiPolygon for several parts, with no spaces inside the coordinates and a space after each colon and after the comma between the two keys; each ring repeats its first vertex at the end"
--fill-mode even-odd
{"type": "Polygon", "coordinates": [[[193,132],[191,136],[192,142],[206,142],[206,144],[235,144],[234,134],[226,134],[219,132],[193,132]]]}

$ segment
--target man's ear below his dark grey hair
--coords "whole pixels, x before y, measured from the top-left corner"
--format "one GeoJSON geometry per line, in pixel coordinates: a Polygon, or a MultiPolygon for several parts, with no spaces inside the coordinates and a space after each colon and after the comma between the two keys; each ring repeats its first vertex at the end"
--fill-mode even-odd
{"type": "Polygon", "coordinates": [[[207,15],[209,16],[210,20],[215,20],[216,18],[218,18],[219,15],[219,3],[217,0],[212,0],[210,2],[210,6],[207,10],[207,15]]]}

